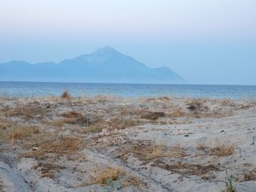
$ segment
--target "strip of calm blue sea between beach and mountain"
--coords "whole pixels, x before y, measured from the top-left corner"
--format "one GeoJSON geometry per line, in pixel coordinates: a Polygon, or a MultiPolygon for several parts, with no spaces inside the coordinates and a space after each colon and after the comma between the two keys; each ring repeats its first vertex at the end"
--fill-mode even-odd
{"type": "Polygon", "coordinates": [[[256,97],[256,85],[157,85],[68,82],[0,82],[0,96],[112,95],[123,97],[181,96],[246,99],[256,97]]]}

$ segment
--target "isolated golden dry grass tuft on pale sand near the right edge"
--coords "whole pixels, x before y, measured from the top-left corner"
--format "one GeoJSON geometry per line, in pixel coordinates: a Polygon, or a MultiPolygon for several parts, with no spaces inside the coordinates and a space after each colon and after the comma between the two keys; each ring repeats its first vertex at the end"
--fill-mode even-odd
{"type": "Polygon", "coordinates": [[[211,155],[219,157],[233,155],[234,152],[234,145],[219,145],[219,143],[217,143],[215,147],[211,148],[211,155]]]}

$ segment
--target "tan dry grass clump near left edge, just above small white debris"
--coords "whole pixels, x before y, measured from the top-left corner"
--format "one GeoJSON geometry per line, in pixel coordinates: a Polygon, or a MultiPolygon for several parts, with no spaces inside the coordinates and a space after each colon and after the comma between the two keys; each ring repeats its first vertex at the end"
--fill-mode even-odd
{"type": "Polygon", "coordinates": [[[39,128],[36,126],[19,126],[11,128],[11,130],[8,131],[7,136],[8,139],[14,142],[15,140],[27,139],[34,134],[39,134],[39,128]]]}

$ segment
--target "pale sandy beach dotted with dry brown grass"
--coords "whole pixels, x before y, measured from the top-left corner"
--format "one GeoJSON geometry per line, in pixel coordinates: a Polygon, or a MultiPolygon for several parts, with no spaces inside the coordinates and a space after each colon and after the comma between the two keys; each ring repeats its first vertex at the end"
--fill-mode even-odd
{"type": "Polygon", "coordinates": [[[256,191],[255,106],[1,98],[0,191],[256,191]]]}

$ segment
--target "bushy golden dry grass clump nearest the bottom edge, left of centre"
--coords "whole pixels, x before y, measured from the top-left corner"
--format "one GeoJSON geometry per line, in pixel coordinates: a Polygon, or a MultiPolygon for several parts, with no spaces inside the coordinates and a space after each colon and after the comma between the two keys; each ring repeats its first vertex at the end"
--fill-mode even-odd
{"type": "Polygon", "coordinates": [[[107,166],[104,169],[99,169],[98,166],[94,166],[94,174],[91,175],[92,180],[87,184],[107,185],[108,180],[116,181],[125,174],[126,173],[120,167],[107,166]]]}

